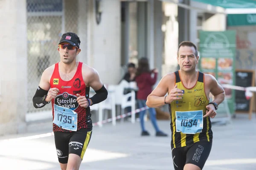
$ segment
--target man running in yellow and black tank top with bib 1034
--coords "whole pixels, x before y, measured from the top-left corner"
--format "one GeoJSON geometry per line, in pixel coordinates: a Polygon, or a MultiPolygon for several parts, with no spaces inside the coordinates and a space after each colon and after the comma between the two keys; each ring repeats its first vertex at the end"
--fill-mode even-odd
{"type": "Polygon", "coordinates": [[[203,169],[212,148],[210,118],[216,116],[225,98],[215,77],[196,70],[198,59],[195,44],[181,42],[177,53],[180,70],[166,74],[146,102],[150,108],[169,105],[175,170],[203,169]],[[209,103],[210,93],[213,101],[209,103]]]}

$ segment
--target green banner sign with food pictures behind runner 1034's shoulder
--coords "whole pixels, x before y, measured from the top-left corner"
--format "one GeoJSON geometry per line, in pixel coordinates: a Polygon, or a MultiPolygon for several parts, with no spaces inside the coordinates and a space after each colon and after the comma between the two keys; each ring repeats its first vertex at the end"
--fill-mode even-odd
{"type": "MultiPolygon", "coordinates": [[[[235,85],[236,31],[200,31],[199,68],[218,83],[235,85]]],[[[235,110],[235,91],[224,88],[230,113],[235,110]]]]}

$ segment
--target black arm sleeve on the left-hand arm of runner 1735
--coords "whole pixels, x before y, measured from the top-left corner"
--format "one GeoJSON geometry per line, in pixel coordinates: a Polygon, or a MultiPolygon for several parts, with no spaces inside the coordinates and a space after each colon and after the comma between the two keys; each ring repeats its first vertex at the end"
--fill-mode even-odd
{"type": "Polygon", "coordinates": [[[33,105],[35,108],[43,108],[48,102],[43,100],[43,97],[48,94],[48,91],[38,86],[35,96],[33,97],[33,105]]]}

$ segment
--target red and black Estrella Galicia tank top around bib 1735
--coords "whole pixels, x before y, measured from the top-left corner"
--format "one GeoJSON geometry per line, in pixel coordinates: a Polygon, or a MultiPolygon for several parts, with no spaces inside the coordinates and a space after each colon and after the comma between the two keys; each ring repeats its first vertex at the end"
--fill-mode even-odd
{"type": "MultiPolygon", "coordinates": [[[[74,77],[69,81],[64,81],[60,77],[58,63],[55,64],[55,68],[50,79],[50,85],[51,88],[58,88],[60,92],[55,99],[52,99],[52,116],[54,119],[54,104],[61,107],[69,108],[77,113],[77,130],[88,129],[88,131],[90,131],[92,130],[90,107],[81,107],[76,101],[76,94],[80,94],[81,96],[86,96],[86,98],[89,98],[90,87],[86,87],[86,85],[84,84],[82,76],[82,65],[83,63],[79,62],[74,77]]],[[[54,123],[53,131],[72,132],[70,130],[62,129],[54,123]]]]}

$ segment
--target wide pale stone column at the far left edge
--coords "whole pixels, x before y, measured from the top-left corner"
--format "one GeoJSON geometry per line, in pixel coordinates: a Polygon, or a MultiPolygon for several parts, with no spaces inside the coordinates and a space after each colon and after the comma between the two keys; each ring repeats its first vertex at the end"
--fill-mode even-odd
{"type": "Polygon", "coordinates": [[[1,0],[0,16],[5,16],[0,17],[0,135],[3,135],[26,130],[26,0],[1,0]]]}

